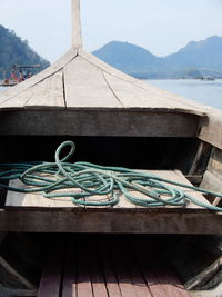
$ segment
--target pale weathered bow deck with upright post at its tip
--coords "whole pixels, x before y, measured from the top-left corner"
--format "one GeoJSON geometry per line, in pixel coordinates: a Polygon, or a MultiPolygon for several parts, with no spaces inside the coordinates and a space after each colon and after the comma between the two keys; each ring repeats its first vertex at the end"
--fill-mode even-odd
{"type": "MultiPolygon", "coordinates": [[[[0,111],[33,108],[39,110],[80,108],[85,111],[99,107],[111,112],[110,108],[115,107],[123,110],[137,108],[147,113],[171,112],[173,117],[174,113],[198,115],[203,120],[196,123],[196,135],[200,139],[222,149],[221,111],[134,79],[82,49],[79,0],[72,1],[72,49],[41,73],[1,93],[0,111]],[[56,80],[53,86],[51,80],[56,80]]],[[[24,113],[22,117],[26,117],[24,113]]],[[[181,116],[181,121],[182,118],[181,116]]],[[[14,125],[13,117],[10,121],[14,125]]],[[[153,135],[159,137],[159,132],[157,135],[154,132],[159,131],[157,122],[151,123],[153,135]]],[[[164,126],[164,121],[161,123],[164,126]]],[[[175,127],[176,125],[172,127],[172,131],[176,129],[175,127]]],[[[44,132],[43,126],[40,127],[40,131],[43,135],[50,133],[50,131],[44,132]]]]}

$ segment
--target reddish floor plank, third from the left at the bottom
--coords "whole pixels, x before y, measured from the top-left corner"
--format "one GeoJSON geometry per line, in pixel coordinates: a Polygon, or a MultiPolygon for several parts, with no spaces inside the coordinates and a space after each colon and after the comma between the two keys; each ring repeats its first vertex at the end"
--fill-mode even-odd
{"type": "MultiPolygon", "coordinates": [[[[90,248],[90,247],[88,247],[90,248]]],[[[77,251],[77,295],[79,297],[93,297],[92,284],[89,269],[89,250],[85,246],[85,240],[80,238],[78,240],[77,251]]]]}

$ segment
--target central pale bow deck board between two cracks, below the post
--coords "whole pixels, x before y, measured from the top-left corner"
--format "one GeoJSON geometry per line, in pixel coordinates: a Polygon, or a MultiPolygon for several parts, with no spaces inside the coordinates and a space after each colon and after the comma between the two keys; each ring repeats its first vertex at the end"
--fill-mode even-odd
{"type": "Polygon", "coordinates": [[[69,109],[121,107],[107,85],[102,71],[80,57],[64,67],[64,89],[69,109]]]}

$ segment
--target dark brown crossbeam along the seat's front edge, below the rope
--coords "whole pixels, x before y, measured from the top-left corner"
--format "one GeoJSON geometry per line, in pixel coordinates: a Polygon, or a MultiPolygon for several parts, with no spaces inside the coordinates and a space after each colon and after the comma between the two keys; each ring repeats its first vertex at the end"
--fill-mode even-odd
{"type": "Polygon", "coordinates": [[[221,214],[193,209],[181,212],[169,208],[142,210],[0,210],[0,231],[205,235],[222,232],[221,214]]]}

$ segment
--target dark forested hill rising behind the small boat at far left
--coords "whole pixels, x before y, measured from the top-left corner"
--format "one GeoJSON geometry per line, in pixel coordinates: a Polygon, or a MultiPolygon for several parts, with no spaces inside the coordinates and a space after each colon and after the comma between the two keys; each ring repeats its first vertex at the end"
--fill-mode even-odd
{"type": "MultiPolygon", "coordinates": [[[[34,52],[27,40],[0,24],[0,77],[2,71],[10,71],[13,65],[41,65],[36,71],[47,68],[50,63],[34,52]]],[[[34,72],[34,69],[33,71],[34,72]]]]}

